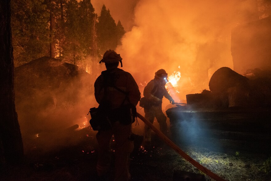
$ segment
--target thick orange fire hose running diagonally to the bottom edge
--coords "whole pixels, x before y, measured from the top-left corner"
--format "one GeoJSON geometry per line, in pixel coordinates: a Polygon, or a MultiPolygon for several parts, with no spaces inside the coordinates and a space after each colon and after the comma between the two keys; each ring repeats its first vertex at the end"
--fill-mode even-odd
{"type": "Polygon", "coordinates": [[[215,179],[217,181],[226,181],[225,179],[222,179],[220,176],[216,175],[212,171],[208,170],[207,168],[200,165],[198,162],[196,162],[193,158],[191,158],[188,154],[186,154],[183,150],[181,150],[177,145],[175,145],[168,137],[166,137],[160,130],[158,130],[150,121],[148,121],[145,117],[143,117],[140,113],[136,113],[137,117],[140,118],[146,125],[148,125],[159,138],[164,140],[165,143],[168,144],[173,150],[175,150],[177,153],[179,153],[184,159],[186,159],[188,162],[190,162],[192,165],[197,167],[200,171],[205,173],[206,175],[210,176],[212,179],[215,179]]]}

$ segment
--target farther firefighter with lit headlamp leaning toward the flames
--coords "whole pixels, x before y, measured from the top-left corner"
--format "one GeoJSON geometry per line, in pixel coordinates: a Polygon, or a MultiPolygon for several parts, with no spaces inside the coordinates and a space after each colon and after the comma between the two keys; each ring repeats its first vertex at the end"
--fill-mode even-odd
{"type": "MultiPolygon", "coordinates": [[[[145,118],[153,123],[156,117],[160,126],[160,131],[167,135],[168,125],[166,123],[166,116],[162,112],[162,99],[167,98],[171,104],[174,104],[174,100],[169,95],[165,88],[168,74],[164,69],[160,69],[155,72],[154,79],[152,79],[144,88],[143,95],[148,100],[148,106],[144,107],[145,118]]],[[[144,147],[151,146],[151,129],[145,124],[144,126],[144,147]]]]}

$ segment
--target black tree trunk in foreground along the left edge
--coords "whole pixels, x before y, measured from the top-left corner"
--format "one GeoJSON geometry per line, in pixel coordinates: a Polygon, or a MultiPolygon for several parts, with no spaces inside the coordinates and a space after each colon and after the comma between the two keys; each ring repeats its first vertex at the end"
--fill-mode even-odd
{"type": "Polygon", "coordinates": [[[10,0],[0,1],[0,166],[22,160],[23,145],[15,111],[10,0]]]}

